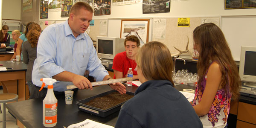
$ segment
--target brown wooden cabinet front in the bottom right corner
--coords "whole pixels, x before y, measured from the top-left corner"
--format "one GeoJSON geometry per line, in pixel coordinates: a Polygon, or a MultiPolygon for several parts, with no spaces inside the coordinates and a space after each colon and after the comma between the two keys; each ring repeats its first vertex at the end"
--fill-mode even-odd
{"type": "Polygon", "coordinates": [[[239,102],[236,128],[256,128],[256,105],[239,102]]]}

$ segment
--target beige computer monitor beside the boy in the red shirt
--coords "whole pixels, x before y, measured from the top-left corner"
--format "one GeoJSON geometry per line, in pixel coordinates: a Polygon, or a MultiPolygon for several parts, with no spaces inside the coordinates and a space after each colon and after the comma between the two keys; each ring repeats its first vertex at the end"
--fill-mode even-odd
{"type": "Polygon", "coordinates": [[[114,59],[119,52],[125,51],[125,39],[116,37],[98,36],[96,50],[99,58],[114,59]]]}

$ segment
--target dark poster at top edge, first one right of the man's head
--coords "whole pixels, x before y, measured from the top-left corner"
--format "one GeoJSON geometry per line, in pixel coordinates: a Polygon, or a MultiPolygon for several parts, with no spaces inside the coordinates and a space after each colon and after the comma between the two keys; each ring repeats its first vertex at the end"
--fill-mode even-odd
{"type": "Polygon", "coordinates": [[[94,0],[94,15],[110,15],[111,0],[94,0]]]}

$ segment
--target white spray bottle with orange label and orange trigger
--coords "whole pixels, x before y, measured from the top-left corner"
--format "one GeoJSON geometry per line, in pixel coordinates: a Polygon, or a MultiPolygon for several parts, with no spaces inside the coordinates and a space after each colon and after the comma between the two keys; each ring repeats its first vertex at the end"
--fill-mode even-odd
{"type": "Polygon", "coordinates": [[[43,81],[43,84],[39,91],[43,89],[45,84],[48,85],[47,94],[43,100],[43,125],[45,127],[54,127],[57,124],[58,100],[53,93],[52,84],[55,83],[56,80],[51,78],[43,78],[40,79],[40,81],[43,81]]]}

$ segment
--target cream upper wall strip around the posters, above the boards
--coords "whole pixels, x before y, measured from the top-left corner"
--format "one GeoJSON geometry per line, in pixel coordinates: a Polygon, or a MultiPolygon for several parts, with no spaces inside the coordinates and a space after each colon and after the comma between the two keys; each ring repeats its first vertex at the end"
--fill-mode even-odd
{"type": "MultiPolygon", "coordinates": [[[[142,0],[141,0],[142,1],[142,0]]],[[[172,1],[169,13],[143,14],[142,3],[113,6],[111,15],[93,16],[93,19],[147,18],[147,17],[212,17],[221,15],[255,15],[256,9],[224,9],[224,0],[183,0],[172,1]]],[[[61,12],[48,12],[48,19],[66,20],[61,12]]]]}

